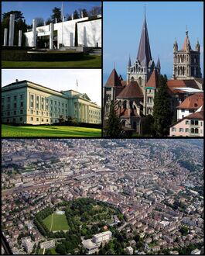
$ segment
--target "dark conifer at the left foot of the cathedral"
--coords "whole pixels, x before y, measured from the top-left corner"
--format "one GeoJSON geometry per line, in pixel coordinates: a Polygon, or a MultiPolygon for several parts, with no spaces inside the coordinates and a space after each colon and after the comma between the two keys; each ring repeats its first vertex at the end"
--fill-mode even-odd
{"type": "Polygon", "coordinates": [[[105,135],[107,137],[120,137],[121,136],[121,121],[114,110],[114,102],[111,101],[110,113],[108,116],[108,124],[105,128],[105,135]]]}

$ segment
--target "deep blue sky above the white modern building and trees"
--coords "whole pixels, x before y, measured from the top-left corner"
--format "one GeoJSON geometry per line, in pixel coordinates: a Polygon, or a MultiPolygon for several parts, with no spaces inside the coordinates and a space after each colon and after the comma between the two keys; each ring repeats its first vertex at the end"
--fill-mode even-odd
{"type": "MultiPolygon", "coordinates": [[[[2,2],[2,13],[10,11],[22,11],[27,24],[32,24],[32,19],[41,17],[48,19],[52,15],[52,9],[58,7],[61,9],[62,2],[2,2]]],[[[74,10],[91,10],[93,6],[101,6],[101,2],[63,2],[63,13],[71,14],[74,10]]]]}

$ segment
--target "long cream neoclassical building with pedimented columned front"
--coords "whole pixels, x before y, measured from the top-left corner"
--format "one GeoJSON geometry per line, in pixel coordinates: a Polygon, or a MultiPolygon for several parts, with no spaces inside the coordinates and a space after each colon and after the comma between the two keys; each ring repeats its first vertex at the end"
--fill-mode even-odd
{"type": "Polygon", "coordinates": [[[101,123],[101,107],[86,93],[58,92],[26,80],[2,88],[2,123],[52,124],[69,116],[80,123],[101,123]]]}

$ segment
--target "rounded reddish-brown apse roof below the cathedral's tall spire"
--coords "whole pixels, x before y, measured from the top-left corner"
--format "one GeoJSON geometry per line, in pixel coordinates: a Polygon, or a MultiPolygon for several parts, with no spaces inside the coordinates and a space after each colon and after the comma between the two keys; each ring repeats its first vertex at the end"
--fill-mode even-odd
{"type": "Polygon", "coordinates": [[[139,87],[137,81],[130,81],[128,85],[117,96],[118,99],[136,99],[143,98],[142,89],[139,87]]]}

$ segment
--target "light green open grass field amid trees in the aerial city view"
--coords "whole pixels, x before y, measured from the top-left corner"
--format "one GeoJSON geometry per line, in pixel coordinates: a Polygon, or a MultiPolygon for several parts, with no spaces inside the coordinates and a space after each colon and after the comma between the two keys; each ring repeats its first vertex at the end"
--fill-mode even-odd
{"type": "Polygon", "coordinates": [[[50,231],[69,230],[65,214],[53,213],[43,220],[43,223],[50,231]]]}

